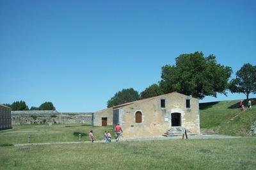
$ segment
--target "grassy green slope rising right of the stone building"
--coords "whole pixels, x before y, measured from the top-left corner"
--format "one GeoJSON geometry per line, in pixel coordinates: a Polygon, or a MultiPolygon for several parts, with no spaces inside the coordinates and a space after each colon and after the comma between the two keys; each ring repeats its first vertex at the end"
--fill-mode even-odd
{"type": "Polygon", "coordinates": [[[200,128],[211,128],[218,134],[247,135],[256,121],[256,99],[251,100],[253,107],[243,112],[239,109],[240,100],[200,104],[200,128]]]}

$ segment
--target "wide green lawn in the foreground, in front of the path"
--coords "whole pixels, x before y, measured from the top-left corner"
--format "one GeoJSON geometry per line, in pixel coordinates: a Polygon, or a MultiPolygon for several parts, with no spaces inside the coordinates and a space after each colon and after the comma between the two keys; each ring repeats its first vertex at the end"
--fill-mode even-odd
{"type": "Polygon", "coordinates": [[[0,147],[0,169],[256,169],[256,138],[0,147]]]}

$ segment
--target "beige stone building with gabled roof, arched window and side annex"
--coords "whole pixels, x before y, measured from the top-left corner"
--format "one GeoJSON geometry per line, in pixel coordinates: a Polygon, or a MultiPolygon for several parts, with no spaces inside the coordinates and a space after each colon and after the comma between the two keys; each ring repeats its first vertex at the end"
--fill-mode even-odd
{"type": "Polygon", "coordinates": [[[120,123],[123,136],[156,137],[172,127],[200,134],[198,99],[177,92],[117,105],[93,114],[93,125],[120,123]]]}

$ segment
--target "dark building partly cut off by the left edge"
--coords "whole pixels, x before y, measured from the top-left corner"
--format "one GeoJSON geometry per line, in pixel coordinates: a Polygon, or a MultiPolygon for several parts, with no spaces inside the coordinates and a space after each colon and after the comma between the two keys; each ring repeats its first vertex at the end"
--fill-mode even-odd
{"type": "Polygon", "coordinates": [[[0,130],[12,128],[11,111],[10,107],[0,105],[0,130]]]}

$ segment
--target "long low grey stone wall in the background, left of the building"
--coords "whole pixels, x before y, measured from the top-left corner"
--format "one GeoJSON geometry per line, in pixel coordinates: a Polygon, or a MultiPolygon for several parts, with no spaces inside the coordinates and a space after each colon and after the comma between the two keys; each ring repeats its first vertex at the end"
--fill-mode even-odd
{"type": "Polygon", "coordinates": [[[12,111],[12,125],[44,123],[92,125],[92,115],[92,112],[12,111]]]}

